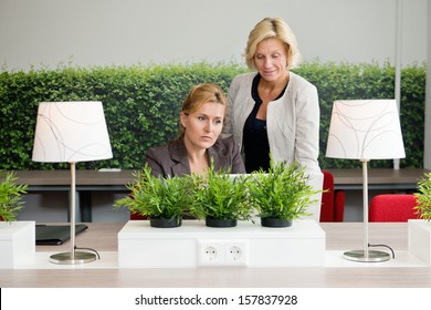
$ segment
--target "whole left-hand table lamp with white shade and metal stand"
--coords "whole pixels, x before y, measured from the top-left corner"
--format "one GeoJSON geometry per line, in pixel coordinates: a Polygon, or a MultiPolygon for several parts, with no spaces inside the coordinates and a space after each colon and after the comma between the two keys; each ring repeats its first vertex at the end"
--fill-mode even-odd
{"type": "Polygon", "coordinates": [[[112,157],[102,102],[39,104],[32,159],[71,165],[71,251],[52,255],[51,262],[78,265],[96,259],[93,252],[75,250],[75,165],[112,157]]]}

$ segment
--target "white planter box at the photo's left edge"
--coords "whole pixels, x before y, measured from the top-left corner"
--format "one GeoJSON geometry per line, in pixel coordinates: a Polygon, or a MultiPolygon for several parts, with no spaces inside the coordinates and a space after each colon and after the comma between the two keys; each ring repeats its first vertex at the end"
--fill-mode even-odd
{"type": "Polygon", "coordinates": [[[0,221],[0,269],[17,268],[34,259],[35,223],[0,221]]]}

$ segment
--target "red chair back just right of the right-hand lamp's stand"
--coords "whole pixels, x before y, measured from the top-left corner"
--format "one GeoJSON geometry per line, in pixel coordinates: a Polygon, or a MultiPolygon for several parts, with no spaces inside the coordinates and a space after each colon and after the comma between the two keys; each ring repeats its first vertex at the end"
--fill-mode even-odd
{"type": "Polygon", "coordinates": [[[381,194],[371,198],[368,211],[369,221],[407,221],[420,218],[414,207],[413,194],[381,194]]]}

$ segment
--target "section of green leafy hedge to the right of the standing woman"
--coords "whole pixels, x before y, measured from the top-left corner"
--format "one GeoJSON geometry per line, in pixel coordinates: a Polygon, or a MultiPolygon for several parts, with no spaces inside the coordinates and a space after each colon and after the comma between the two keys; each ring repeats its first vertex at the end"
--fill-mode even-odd
{"type": "MultiPolygon", "coordinates": [[[[323,168],[360,167],[359,161],[325,157],[330,113],[335,100],[393,99],[395,68],[389,64],[308,63],[298,73],[317,86],[320,102],[320,155],[323,168]]],[[[400,122],[406,148],[401,167],[423,166],[425,65],[401,71],[400,122]]],[[[370,167],[392,167],[392,161],[370,161],[370,167]]]]}

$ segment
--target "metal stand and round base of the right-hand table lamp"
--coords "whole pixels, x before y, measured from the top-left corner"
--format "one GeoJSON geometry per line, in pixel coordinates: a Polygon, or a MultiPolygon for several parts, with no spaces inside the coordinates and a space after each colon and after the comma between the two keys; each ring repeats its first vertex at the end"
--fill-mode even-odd
{"type": "Polygon", "coordinates": [[[351,250],[344,252],[344,258],[353,261],[378,262],[390,259],[385,251],[368,249],[368,159],[362,162],[362,204],[364,204],[364,250],[351,250]]]}

